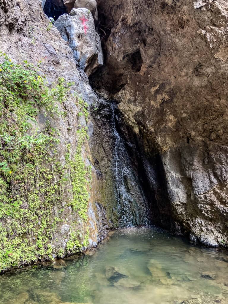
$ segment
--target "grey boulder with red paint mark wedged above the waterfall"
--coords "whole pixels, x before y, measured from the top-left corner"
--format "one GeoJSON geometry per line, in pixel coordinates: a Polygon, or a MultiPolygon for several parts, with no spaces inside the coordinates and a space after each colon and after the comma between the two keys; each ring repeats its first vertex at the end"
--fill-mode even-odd
{"type": "Polygon", "coordinates": [[[70,15],[60,16],[54,25],[73,50],[75,60],[87,76],[103,64],[101,40],[88,9],[72,9],[70,15]]]}

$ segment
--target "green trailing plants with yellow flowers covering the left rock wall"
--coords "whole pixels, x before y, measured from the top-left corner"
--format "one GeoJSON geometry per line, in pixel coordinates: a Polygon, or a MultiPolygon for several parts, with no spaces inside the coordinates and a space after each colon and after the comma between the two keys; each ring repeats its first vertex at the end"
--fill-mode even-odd
{"type": "MultiPolygon", "coordinates": [[[[0,55],[0,271],[4,271],[52,259],[51,240],[62,221],[63,197],[73,197],[68,206],[86,221],[89,173],[81,155],[85,129],[78,130],[75,155],[68,146],[66,164],[61,164],[57,161],[60,133],[50,124],[50,118],[64,115],[60,104],[72,83],[59,78],[49,88],[33,65],[14,64],[0,55]],[[38,115],[45,117],[43,128],[37,123],[38,115]]],[[[83,111],[87,117],[85,103],[83,111]]],[[[85,237],[72,234],[66,247],[71,253],[87,244],[88,230],[85,237]]],[[[62,248],[59,251],[63,253],[62,248]]]]}

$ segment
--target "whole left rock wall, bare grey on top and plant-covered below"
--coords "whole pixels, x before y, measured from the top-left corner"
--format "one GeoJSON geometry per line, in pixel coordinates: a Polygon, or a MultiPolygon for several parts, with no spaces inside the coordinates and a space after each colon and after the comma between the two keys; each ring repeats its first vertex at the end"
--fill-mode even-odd
{"type": "Polygon", "coordinates": [[[73,51],[39,1],[1,2],[0,41],[2,271],[84,251],[115,225],[88,143],[97,97],[73,51]]]}

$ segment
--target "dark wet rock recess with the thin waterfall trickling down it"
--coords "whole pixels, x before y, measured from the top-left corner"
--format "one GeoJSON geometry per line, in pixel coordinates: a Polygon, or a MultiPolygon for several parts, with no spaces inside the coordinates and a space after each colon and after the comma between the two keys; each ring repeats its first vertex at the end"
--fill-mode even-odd
{"type": "Polygon", "coordinates": [[[110,176],[114,181],[116,199],[111,199],[110,195],[106,198],[109,203],[112,201],[113,210],[117,212],[118,227],[156,224],[174,231],[159,152],[152,146],[149,152],[146,151],[143,134],[136,134],[124,122],[114,100],[100,99],[98,108],[91,114],[94,118],[92,154],[97,178],[104,181],[109,191],[110,176]]]}

